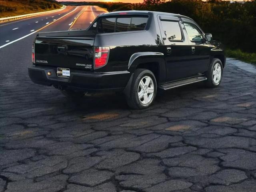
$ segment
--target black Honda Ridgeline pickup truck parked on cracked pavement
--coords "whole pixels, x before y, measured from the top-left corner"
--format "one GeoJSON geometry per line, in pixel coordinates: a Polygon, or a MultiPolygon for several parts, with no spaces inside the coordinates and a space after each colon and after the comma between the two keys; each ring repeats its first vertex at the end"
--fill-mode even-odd
{"type": "Polygon", "coordinates": [[[192,20],[150,11],[99,15],[87,30],[39,33],[32,46],[34,83],[68,97],[122,92],[131,108],[152,104],[158,90],[204,81],[216,87],[226,57],[192,20]]]}

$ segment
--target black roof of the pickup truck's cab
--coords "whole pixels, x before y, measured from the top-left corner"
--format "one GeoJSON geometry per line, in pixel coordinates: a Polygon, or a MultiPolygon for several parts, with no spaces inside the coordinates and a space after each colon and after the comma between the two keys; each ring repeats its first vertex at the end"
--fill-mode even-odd
{"type": "MultiPolygon", "coordinates": [[[[168,15],[168,16],[176,16],[176,17],[183,17],[183,18],[188,18],[191,19],[187,16],[184,15],[180,15],[180,14],[174,14],[174,13],[166,13],[166,12],[157,12],[157,11],[137,11],[137,10],[131,10],[131,11],[115,11],[115,12],[109,12],[109,13],[103,13],[100,16],[115,16],[115,15],[124,15],[124,14],[128,14],[128,15],[132,15],[132,14],[136,14],[136,15],[146,15],[146,14],[156,14],[156,15],[168,15]]],[[[193,20],[193,19],[191,19],[193,20]]]]}

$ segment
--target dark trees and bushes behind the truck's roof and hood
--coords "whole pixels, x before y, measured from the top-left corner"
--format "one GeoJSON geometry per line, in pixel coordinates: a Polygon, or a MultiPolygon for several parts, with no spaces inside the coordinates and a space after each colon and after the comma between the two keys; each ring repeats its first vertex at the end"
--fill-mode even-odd
{"type": "MultiPolygon", "coordinates": [[[[95,3],[94,3],[95,5],[95,3]]],[[[98,3],[108,11],[149,10],[170,12],[194,19],[213,39],[230,49],[256,52],[256,0],[250,2],[201,0],[144,0],[143,4],[98,3]]]]}

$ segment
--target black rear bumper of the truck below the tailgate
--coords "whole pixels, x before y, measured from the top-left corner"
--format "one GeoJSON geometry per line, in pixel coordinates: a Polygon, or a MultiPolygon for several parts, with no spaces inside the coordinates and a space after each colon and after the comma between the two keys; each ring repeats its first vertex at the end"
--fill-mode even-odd
{"type": "Polygon", "coordinates": [[[47,66],[32,66],[28,68],[32,82],[41,85],[63,86],[68,90],[84,91],[121,91],[130,79],[130,72],[86,72],[70,70],[70,78],[61,78],[56,74],[56,68],[47,66]],[[51,72],[49,76],[47,73],[51,72]]]}

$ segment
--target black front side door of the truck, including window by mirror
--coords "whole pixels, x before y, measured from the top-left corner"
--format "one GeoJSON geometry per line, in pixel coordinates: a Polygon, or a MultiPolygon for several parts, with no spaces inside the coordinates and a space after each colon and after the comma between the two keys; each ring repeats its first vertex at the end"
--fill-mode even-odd
{"type": "Polygon", "coordinates": [[[204,74],[210,63],[210,44],[205,42],[204,33],[192,20],[182,18],[190,44],[190,68],[194,75],[204,74]]]}

